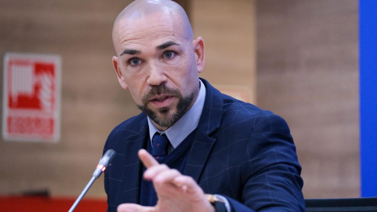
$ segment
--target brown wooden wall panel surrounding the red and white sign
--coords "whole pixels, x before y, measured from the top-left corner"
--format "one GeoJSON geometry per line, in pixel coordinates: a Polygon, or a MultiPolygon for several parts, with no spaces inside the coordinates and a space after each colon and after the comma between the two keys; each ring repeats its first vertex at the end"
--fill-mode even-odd
{"type": "MultiPolygon", "coordinates": [[[[129,92],[119,86],[111,61],[113,21],[128,3],[0,2],[1,55],[31,52],[62,57],[61,140],[56,144],[1,140],[0,194],[48,189],[54,196],[78,196],[109,132],[138,113],[129,92]]],[[[103,177],[87,195],[105,197],[103,177]]]]}

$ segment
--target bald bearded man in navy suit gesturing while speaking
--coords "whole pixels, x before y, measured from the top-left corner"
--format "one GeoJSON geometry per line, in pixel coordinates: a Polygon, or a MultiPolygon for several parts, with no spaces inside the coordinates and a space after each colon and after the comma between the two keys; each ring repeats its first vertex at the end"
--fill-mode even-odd
{"type": "Polygon", "coordinates": [[[204,41],[178,4],[136,0],[112,38],[119,83],[143,112],[106,141],[108,211],[305,210],[286,122],[199,79],[204,41]]]}

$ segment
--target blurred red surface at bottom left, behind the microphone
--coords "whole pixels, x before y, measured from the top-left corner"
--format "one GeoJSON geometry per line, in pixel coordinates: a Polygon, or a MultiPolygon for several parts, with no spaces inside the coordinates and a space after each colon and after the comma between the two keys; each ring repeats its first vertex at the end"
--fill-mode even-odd
{"type": "MultiPolygon", "coordinates": [[[[76,199],[46,197],[0,196],[1,212],[67,212],[76,199]]],[[[106,200],[86,199],[80,201],[75,212],[105,212],[106,200]]]]}

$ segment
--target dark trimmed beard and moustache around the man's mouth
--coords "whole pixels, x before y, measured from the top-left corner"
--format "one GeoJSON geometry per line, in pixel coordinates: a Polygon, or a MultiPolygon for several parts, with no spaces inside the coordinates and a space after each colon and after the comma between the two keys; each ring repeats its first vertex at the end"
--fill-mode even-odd
{"type": "Polygon", "coordinates": [[[190,95],[183,97],[181,92],[178,89],[172,89],[166,87],[165,84],[160,84],[158,86],[154,86],[144,97],[142,98],[143,105],[138,105],[138,108],[143,111],[147,116],[154,121],[156,124],[163,128],[169,128],[173,124],[175,124],[187,111],[190,104],[193,100],[193,93],[190,95]],[[170,111],[170,107],[159,108],[158,112],[162,114],[162,117],[157,117],[157,114],[153,112],[151,109],[147,108],[147,103],[155,95],[161,94],[168,94],[175,97],[178,97],[178,104],[176,107],[176,112],[172,115],[172,117],[166,117],[166,115],[170,111]]]}

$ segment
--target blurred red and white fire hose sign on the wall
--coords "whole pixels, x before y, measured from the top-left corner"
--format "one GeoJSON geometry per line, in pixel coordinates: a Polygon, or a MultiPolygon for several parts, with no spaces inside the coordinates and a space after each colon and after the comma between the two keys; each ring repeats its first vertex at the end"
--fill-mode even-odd
{"type": "Polygon", "coordinates": [[[3,59],[3,138],[60,139],[61,58],[6,53],[3,59]]]}

